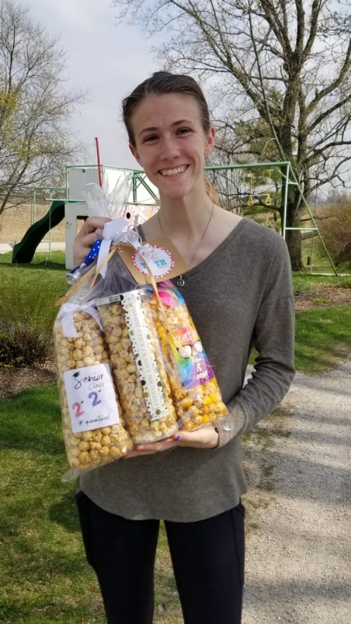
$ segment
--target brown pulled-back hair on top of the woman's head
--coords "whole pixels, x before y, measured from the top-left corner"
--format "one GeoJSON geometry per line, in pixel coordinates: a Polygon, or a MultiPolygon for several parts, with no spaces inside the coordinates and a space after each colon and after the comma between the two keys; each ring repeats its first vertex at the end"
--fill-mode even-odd
{"type": "Polygon", "coordinates": [[[155,71],[151,78],[146,78],[144,83],[140,83],[132,93],[123,99],[123,121],[128,132],[130,145],[135,147],[135,136],[132,130],[132,114],[135,107],[150,94],[164,95],[166,93],[182,93],[193,97],[198,103],[201,114],[201,123],[205,132],[209,131],[209,110],[205,96],[198,83],[191,76],[182,73],[171,73],[169,71],[155,71]]]}

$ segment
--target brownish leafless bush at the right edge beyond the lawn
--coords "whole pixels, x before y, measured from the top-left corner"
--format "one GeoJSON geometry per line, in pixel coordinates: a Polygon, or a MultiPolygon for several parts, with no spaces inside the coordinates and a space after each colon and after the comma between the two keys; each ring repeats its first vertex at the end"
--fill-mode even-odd
{"type": "Polygon", "coordinates": [[[325,208],[319,227],[334,263],[351,262],[351,200],[342,198],[325,208]]]}

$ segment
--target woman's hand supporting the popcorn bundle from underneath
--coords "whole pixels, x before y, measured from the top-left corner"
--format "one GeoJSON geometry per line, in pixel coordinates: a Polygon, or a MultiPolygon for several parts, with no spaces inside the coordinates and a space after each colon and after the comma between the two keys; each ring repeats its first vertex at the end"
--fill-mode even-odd
{"type": "Polygon", "coordinates": [[[215,449],[219,445],[219,434],[213,427],[203,427],[196,431],[180,431],[173,437],[165,437],[159,442],[150,444],[138,444],[135,449],[129,451],[123,459],[139,457],[141,455],[153,455],[160,451],[167,451],[173,447],[193,447],[194,449],[215,449]]]}

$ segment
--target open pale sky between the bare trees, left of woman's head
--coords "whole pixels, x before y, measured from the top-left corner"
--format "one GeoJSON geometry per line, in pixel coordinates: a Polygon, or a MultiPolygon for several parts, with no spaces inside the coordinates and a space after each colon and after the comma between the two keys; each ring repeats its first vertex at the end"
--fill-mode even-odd
{"type": "MultiPolygon", "coordinates": [[[[26,3],[26,0],[24,0],[26,3]]],[[[139,28],[116,25],[111,0],[27,0],[31,17],[67,53],[65,88],[89,90],[87,103],[72,117],[72,128],[87,144],[87,162],[135,167],[121,122],[121,100],[153,71],[162,69],[150,53],[151,40],[139,28]]],[[[68,163],[67,163],[68,164],[68,163]]]]}

